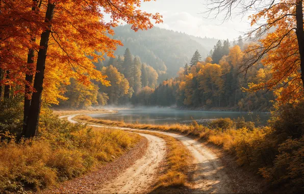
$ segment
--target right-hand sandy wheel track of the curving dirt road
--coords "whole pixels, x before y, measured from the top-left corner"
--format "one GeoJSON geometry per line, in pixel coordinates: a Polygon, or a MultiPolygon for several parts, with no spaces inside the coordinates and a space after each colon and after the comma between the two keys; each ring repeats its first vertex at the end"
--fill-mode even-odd
{"type": "MultiPolygon", "coordinates": [[[[72,118],[74,115],[68,116],[69,122],[78,123],[72,118]]],[[[100,125],[90,125],[93,127],[101,127],[100,125]]],[[[108,126],[103,126],[108,127],[108,126]]],[[[121,130],[137,130],[130,128],[109,127],[121,130]]],[[[168,136],[172,136],[181,142],[190,150],[195,158],[193,162],[195,169],[193,172],[193,193],[232,193],[236,192],[232,187],[234,182],[229,179],[220,159],[211,150],[201,145],[200,142],[186,137],[184,135],[161,132],[155,130],[137,130],[137,131],[153,131],[168,136]]]]}

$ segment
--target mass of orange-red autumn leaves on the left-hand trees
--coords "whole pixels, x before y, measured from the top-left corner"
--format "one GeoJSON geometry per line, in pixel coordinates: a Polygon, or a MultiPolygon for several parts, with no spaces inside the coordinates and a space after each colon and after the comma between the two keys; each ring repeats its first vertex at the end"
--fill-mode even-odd
{"type": "MultiPolygon", "coordinates": [[[[43,98],[47,103],[58,103],[64,99],[61,84],[69,84],[70,78],[91,86],[91,80],[110,85],[107,77],[98,71],[92,62],[103,56],[113,56],[113,51],[122,43],[110,38],[113,27],[125,21],[132,29],[153,27],[151,19],[162,22],[161,15],[139,10],[140,0],[42,0],[39,9],[32,11],[33,0],[1,0],[0,7],[0,68],[8,75],[1,84],[23,92],[25,73],[35,74],[37,51],[41,33],[50,24],[50,38],[46,56],[43,98]],[[44,22],[46,5],[55,4],[52,21],[44,22]],[[104,15],[111,16],[110,21],[104,15]],[[36,41],[31,42],[35,37],[36,41]],[[36,50],[34,63],[27,63],[29,48],[36,50]],[[96,53],[102,55],[97,55],[96,53]],[[33,67],[33,68],[29,68],[33,67]]],[[[33,88],[32,88],[33,89],[33,88]]]]}

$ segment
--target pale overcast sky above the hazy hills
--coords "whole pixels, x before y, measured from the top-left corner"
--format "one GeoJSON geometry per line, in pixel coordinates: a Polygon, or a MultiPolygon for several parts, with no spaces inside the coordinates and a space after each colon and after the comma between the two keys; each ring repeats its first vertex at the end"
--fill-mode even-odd
{"type": "Polygon", "coordinates": [[[214,37],[233,40],[250,28],[247,17],[233,18],[222,23],[220,19],[210,20],[200,14],[206,10],[207,0],[157,0],[143,2],[141,10],[163,15],[164,22],[157,25],[161,28],[181,31],[200,37],[214,37]]]}

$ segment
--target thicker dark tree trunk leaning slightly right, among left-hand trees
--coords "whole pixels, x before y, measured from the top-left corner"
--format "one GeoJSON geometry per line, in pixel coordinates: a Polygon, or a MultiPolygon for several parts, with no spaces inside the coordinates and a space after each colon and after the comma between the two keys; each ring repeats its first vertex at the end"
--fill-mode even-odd
{"type": "MultiPolygon", "coordinates": [[[[54,9],[55,9],[54,4],[47,5],[45,22],[49,22],[53,19],[54,9]]],[[[49,40],[50,27],[51,26],[49,25],[47,30],[45,30],[41,34],[40,49],[38,52],[36,74],[34,80],[34,89],[36,90],[36,92],[34,92],[32,95],[32,101],[28,115],[27,130],[24,133],[24,137],[26,138],[36,136],[38,131],[39,115],[41,109],[41,95],[43,89],[43,79],[44,79],[44,69],[45,69],[45,59],[47,52],[47,44],[49,40]]]]}

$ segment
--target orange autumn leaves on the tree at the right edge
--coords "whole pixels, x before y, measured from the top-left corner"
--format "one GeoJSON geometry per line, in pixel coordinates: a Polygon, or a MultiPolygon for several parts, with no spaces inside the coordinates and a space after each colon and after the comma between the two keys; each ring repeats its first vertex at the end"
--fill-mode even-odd
{"type": "Polygon", "coordinates": [[[296,0],[280,1],[249,17],[252,26],[267,18],[267,25],[260,30],[270,33],[260,40],[261,44],[250,45],[245,52],[254,56],[254,60],[271,67],[271,79],[258,84],[249,83],[248,90],[273,90],[278,105],[303,99],[295,17],[295,7],[298,3],[296,0]],[[267,55],[259,58],[263,53],[267,55]]]}

